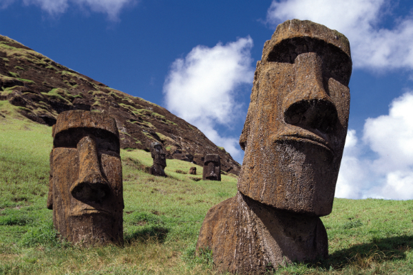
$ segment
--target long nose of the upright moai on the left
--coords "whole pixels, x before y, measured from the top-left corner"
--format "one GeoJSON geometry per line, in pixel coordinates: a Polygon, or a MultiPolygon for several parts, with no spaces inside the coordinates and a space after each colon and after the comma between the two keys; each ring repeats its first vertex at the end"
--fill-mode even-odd
{"type": "Polygon", "coordinates": [[[79,158],[79,176],[70,188],[72,196],[78,200],[100,201],[109,195],[107,180],[100,172],[96,140],[93,135],[86,135],[77,144],[79,158]]]}

